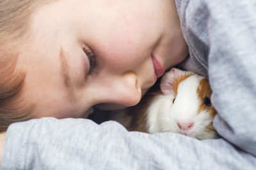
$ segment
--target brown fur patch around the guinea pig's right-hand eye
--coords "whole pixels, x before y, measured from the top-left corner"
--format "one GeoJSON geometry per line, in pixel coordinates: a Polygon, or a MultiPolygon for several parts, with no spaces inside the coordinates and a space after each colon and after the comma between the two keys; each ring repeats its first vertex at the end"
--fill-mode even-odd
{"type": "Polygon", "coordinates": [[[216,115],[216,110],[214,109],[212,104],[211,105],[205,104],[205,97],[208,97],[209,99],[211,99],[211,94],[212,94],[212,90],[207,78],[203,78],[202,80],[200,80],[200,83],[196,92],[200,100],[197,113],[200,113],[201,111],[205,110],[209,113],[211,117],[214,117],[216,115]]]}

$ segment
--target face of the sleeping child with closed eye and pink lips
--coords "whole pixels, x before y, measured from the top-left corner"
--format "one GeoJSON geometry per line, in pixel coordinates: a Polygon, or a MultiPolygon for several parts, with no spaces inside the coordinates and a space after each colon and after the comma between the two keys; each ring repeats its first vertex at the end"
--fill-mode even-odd
{"type": "Polygon", "coordinates": [[[30,27],[17,64],[35,117],[137,104],[188,55],[174,0],[61,0],[36,11],[30,27]]]}

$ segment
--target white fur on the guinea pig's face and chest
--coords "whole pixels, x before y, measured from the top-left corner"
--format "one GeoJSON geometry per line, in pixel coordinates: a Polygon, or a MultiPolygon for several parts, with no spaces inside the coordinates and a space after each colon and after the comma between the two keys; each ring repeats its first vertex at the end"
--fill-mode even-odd
{"type": "Polygon", "coordinates": [[[177,96],[174,92],[160,94],[147,110],[147,127],[149,133],[176,132],[198,139],[215,138],[216,132],[205,131],[212,123],[212,117],[207,110],[199,110],[200,97],[198,87],[204,77],[192,74],[179,83],[177,96]],[[172,103],[175,98],[174,103],[172,103]],[[190,122],[191,128],[182,130],[179,124],[190,122]]]}

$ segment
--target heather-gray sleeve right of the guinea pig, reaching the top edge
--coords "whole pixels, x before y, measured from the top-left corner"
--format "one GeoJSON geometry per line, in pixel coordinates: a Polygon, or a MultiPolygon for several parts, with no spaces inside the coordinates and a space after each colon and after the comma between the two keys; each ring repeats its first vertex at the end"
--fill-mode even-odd
{"type": "Polygon", "coordinates": [[[256,156],[256,1],[176,3],[189,45],[186,66],[209,76],[214,127],[256,156]]]}

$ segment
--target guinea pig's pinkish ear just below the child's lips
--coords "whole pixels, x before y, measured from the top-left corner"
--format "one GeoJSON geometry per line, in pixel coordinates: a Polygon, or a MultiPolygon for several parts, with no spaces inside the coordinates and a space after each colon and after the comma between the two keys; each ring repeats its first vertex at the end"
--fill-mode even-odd
{"type": "Polygon", "coordinates": [[[163,94],[170,94],[173,90],[173,82],[178,78],[183,71],[180,69],[172,68],[170,71],[166,72],[161,80],[160,89],[163,94]]]}

